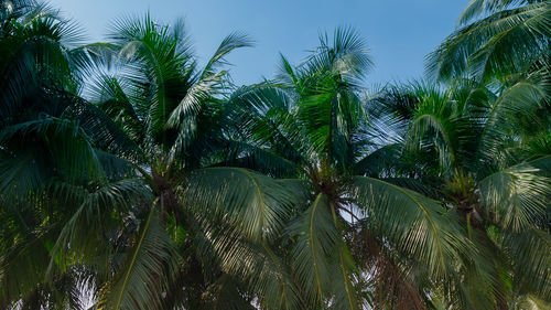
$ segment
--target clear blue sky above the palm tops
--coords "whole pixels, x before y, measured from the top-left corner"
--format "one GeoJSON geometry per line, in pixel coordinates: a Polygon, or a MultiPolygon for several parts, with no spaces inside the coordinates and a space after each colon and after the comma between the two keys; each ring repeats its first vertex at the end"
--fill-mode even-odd
{"type": "Polygon", "coordinates": [[[249,34],[252,49],[229,61],[237,84],[273,77],[279,53],[299,64],[321,31],[355,28],[371,50],[368,84],[422,77],[424,56],[450,34],[468,0],[50,0],[87,31],[104,38],[109,23],[144,14],[170,23],[183,17],[199,60],[206,60],[233,31],[249,34]]]}

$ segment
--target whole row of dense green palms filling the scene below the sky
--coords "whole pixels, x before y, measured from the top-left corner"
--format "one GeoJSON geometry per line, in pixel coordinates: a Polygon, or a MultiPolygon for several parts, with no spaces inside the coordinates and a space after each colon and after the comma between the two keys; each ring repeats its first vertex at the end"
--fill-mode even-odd
{"type": "Polygon", "coordinates": [[[550,309],[551,1],[473,0],[431,82],[350,29],[236,87],[182,22],[0,1],[0,309],[550,309]]]}

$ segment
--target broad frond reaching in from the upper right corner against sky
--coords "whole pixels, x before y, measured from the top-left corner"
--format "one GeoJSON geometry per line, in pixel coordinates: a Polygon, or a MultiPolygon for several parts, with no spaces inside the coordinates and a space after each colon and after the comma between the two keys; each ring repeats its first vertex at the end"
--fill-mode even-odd
{"type": "Polygon", "coordinates": [[[549,1],[497,12],[449,36],[429,56],[428,71],[441,79],[525,71],[547,55],[550,29],[549,1]]]}

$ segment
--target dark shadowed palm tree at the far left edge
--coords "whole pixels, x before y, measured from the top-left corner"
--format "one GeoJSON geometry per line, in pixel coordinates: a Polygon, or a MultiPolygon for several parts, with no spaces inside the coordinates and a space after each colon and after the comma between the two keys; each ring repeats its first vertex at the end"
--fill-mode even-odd
{"type": "Polygon", "coordinates": [[[79,31],[47,6],[0,3],[0,307],[74,306],[80,266],[98,253],[83,243],[65,268],[57,244],[101,238],[114,221],[94,216],[102,229],[85,236],[73,231],[80,216],[148,196],[138,180],[116,177],[80,122],[96,110],[73,95],[91,63],[79,31]]]}

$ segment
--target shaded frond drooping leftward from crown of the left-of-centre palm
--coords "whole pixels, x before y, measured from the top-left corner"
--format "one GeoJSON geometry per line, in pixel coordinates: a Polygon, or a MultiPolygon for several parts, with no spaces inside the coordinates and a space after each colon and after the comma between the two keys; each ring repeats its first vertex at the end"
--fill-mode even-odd
{"type": "Polygon", "coordinates": [[[98,274],[109,274],[110,245],[106,235],[116,229],[119,218],[132,206],[152,201],[149,190],[136,179],[119,180],[91,192],[56,182],[50,186],[48,194],[58,197],[60,203],[75,205],[64,211],[66,221],[61,223],[61,232],[51,249],[48,274],[54,265],[63,270],[75,258],[97,266],[98,274]]]}

